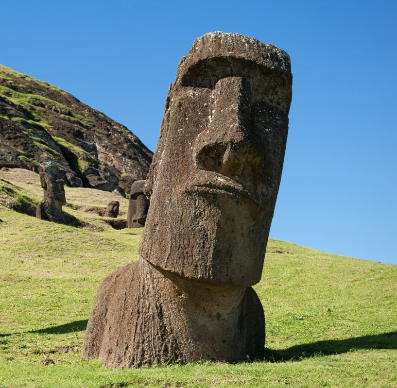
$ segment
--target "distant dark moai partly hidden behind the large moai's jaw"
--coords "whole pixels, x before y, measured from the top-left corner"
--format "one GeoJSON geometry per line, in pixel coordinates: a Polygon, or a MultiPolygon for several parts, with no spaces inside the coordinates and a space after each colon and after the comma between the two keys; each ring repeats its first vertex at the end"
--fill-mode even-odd
{"type": "Polygon", "coordinates": [[[127,228],[141,228],[145,226],[150,201],[143,193],[146,181],[135,181],[131,185],[130,200],[128,202],[127,228]]]}

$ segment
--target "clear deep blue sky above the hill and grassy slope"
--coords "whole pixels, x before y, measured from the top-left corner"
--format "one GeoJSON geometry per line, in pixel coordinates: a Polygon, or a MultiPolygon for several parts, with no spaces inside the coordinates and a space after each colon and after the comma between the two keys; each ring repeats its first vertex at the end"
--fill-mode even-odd
{"type": "Polygon", "coordinates": [[[397,264],[397,1],[4,1],[0,63],[126,125],[155,150],[194,38],[237,32],[292,58],[271,236],[397,264]]]}

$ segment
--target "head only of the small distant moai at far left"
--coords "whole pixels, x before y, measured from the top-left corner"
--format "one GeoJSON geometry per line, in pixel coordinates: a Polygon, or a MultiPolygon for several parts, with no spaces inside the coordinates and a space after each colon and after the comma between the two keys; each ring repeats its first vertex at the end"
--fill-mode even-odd
{"type": "Polygon", "coordinates": [[[44,198],[66,203],[63,173],[54,161],[47,161],[39,167],[40,183],[44,198]]]}

